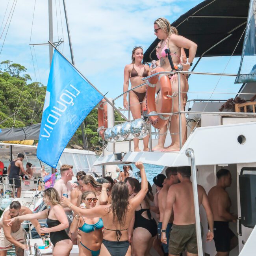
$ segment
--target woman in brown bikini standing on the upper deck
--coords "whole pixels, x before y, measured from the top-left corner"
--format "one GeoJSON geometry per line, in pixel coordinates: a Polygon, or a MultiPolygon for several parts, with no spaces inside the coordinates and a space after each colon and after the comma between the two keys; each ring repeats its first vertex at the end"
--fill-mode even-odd
{"type": "MultiPolygon", "coordinates": [[[[149,67],[141,63],[143,59],[143,49],[141,46],[134,46],[132,50],[132,63],[124,67],[124,92],[128,91],[129,80],[131,82],[131,89],[144,83],[141,78],[147,77],[150,74],[149,67]]],[[[141,118],[143,108],[145,107],[146,86],[143,85],[133,91],[130,91],[130,110],[133,119],[141,118]]],[[[124,108],[128,109],[127,93],[124,93],[124,108]]],[[[143,151],[148,151],[149,136],[143,139],[143,151]]],[[[139,139],[134,138],[134,151],[139,150],[139,139]]]]}

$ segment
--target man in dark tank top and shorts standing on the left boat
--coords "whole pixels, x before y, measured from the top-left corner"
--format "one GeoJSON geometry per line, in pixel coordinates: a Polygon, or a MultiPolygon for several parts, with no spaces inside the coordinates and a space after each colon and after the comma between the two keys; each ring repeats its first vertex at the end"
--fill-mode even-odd
{"type": "Polygon", "coordinates": [[[15,185],[14,189],[17,189],[16,197],[20,197],[20,194],[21,194],[21,182],[20,182],[20,176],[19,176],[20,171],[23,174],[26,174],[28,178],[32,177],[29,173],[27,173],[24,170],[23,163],[22,163],[24,158],[25,158],[24,155],[22,153],[19,153],[17,158],[11,161],[7,169],[7,173],[9,175],[9,184],[13,185],[13,179],[14,179],[14,185],[15,185]]]}

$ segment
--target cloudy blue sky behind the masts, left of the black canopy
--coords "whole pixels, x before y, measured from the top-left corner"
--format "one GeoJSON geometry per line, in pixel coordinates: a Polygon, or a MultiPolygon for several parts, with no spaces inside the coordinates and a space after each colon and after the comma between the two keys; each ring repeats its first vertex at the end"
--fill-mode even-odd
{"type": "MultiPolygon", "coordinates": [[[[7,0],[0,1],[0,24],[4,17],[7,2],[7,0]]],[[[54,41],[64,37],[64,54],[69,58],[62,1],[53,0],[52,2],[54,41]],[[58,17],[59,38],[56,15],[58,17]],[[64,35],[62,35],[62,29],[64,35]]],[[[11,4],[12,0],[10,0],[11,4]]],[[[174,0],[66,0],[66,5],[76,66],[85,76],[88,76],[91,82],[95,83],[102,93],[110,91],[109,96],[117,96],[122,93],[123,68],[131,61],[133,46],[143,46],[146,50],[156,38],[153,32],[154,20],[159,17],[166,17],[173,22],[182,14],[182,4],[180,1],[174,0]]],[[[17,2],[0,60],[10,59],[25,65],[28,68],[28,73],[35,80],[30,47],[28,46],[33,7],[34,0],[19,0],[17,2]]],[[[10,6],[7,14],[9,10],[10,6]]],[[[47,41],[48,1],[37,0],[31,43],[46,43],[47,41]]],[[[2,43],[3,39],[0,39],[0,46],[2,43]]],[[[40,77],[42,82],[46,84],[48,47],[35,46],[35,52],[40,77]]],[[[39,80],[38,74],[37,79],[39,80]]]]}

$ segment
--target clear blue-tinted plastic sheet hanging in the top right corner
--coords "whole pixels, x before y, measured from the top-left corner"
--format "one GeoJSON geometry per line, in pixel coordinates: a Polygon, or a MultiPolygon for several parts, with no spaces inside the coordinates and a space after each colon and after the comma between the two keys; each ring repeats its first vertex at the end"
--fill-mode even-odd
{"type": "Polygon", "coordinates": [[[250,0],[241,63],[235,83],[256,82],[256,0],[250,0]]]}

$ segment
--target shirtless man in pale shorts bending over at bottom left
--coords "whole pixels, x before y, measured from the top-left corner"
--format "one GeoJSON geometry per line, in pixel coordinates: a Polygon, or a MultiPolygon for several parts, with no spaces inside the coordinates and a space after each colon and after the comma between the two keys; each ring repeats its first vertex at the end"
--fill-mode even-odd
{"type": "MultiPolygon", "coordinates": [[[[5,211],[3,219],[0,221],[0,256],[6,256],[7,250],[12,249],[13,245],[17,256],[23,256],[24,250],[28,249],[28,246],[24,245],[24,234],[21,226],[23,221],[16,221],[12,226],[7,225],[7,220],[28,213],[32,213],[32,211],[26,206],[21,206],[18,201],[12,201],[9,210],[5,211]]],[[[31,220],[31,223],[40,235],[39,222],[31,220]]]]}

